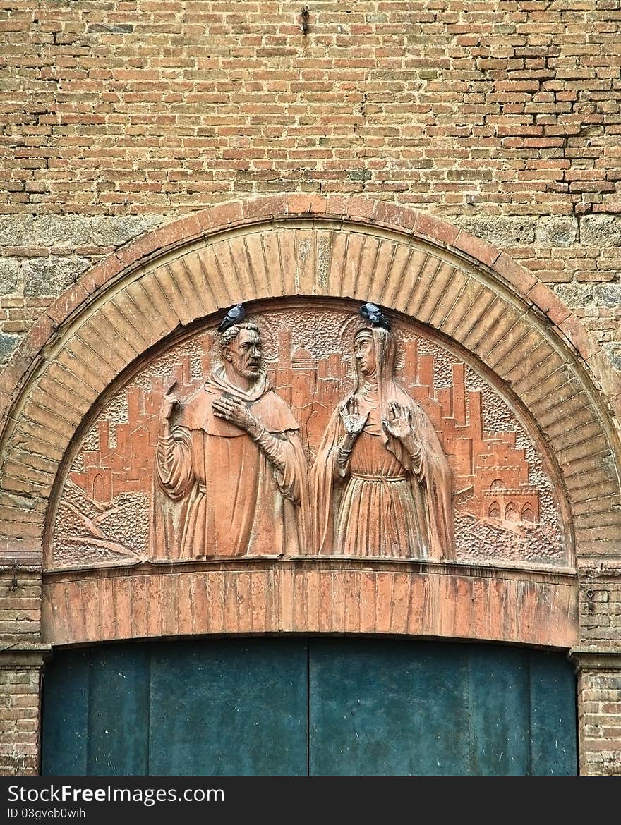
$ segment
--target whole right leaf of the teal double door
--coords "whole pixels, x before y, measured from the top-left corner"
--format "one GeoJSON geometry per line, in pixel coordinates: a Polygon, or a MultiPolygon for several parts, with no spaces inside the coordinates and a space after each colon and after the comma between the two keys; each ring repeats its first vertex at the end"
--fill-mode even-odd
{"type": "Polygon", "coordinates": [[[310,771],[575,774],[574,678],[522,648],[312,642],[310,771]]]}

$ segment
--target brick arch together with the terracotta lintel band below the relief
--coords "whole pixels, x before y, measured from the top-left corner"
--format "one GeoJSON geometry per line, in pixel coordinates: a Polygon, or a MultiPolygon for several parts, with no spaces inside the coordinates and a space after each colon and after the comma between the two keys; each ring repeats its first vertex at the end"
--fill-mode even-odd
{"type": "Polygon", "coordinates": [[[344,559],[288,559],[50,571],[42,639],[291,631],[579,646],[578,571],[619,559],[619,382],[531,272],[450,224],[371,200],[217,206],[119,250],[56,300],[3,376],[3,553],[43,559],[55,484],[85,418],[119,376],[239,299],[296,296],[382,304],[495,375],[536,422],[557,468],[571,564],[377,562],[361,570],[344,559]]]}

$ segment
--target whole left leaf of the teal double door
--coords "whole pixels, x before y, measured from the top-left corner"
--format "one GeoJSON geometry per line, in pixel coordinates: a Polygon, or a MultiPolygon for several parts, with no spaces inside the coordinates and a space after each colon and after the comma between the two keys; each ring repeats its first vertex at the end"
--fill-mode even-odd
{"type": "Polygon", "coordinates": [[[299,775],[307,652],[294,640],[102,645],[46,668],[46,775],[299,775]]]}

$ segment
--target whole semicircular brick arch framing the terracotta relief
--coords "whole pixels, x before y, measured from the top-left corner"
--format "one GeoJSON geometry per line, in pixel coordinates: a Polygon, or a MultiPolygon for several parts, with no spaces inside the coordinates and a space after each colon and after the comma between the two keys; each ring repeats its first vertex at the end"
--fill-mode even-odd
{"type": "Polygon", "coordinates": [[[13,554],[40,554],[59,463],[102,390],[179,326],[239,295],[373,300],[453,339],[509,384],[547,437],[578,557],[618,554],[619,382],[576,318],[532,273],[450,224],[316,196],[232,203],[169,224],[95,266],[40,318],[0,396],[13,554]]]}

